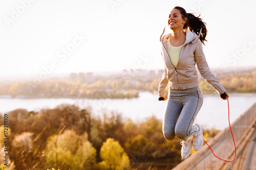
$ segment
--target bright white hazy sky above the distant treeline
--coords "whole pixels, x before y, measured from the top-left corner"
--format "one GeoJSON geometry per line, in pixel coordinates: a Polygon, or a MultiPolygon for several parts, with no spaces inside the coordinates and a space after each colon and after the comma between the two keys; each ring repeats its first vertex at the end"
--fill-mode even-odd
{"type": "Polygon", "coordinates": [[[254,0],[2,0],[0,79],[163,69],[159,37],[175,6],[206,22],[210,68],[256,66],[254,0]]]}

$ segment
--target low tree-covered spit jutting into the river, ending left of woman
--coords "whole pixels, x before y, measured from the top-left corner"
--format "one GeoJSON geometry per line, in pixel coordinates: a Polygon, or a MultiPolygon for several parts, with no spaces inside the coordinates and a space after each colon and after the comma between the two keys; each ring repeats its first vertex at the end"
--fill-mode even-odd
{"type": "Polygon", "coordinates": [[[126,88],[124,81],[102,81],[83,83],[54,79],[41,82],[38,85],[32,82],[0,83],[0,95],[11,95],[12,98],[88,98],[88,99],[123,99],[138,98],[139,92],[126,88]],[[120,86],[119,84],[122,84],[120,86]],[[120,88],[116,88],[120,86],[120,88]]]}

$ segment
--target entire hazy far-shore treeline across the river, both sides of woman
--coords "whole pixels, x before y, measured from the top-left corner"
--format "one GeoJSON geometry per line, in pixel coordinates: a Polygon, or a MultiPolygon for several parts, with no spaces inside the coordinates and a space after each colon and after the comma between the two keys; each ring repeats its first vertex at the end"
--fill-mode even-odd
{"type": "MultiPolygon", "coordinates": [[[[54,79],[40,83],[16,82],[0,83],[0,95],[11,95],[12,98],[88,98],[88,99],[123,99],[138,98],[140,91],[156,92],[161,81],[161,71],[127,73],[124,75],[96,77],[88,83],[83,79],[54,79]]],[[[215,72],[214,72],[215,73],[215,72]]],[[[216,74],[220,83],[228,92],[256,92],[256,71],[232,71],[216,74]]],[[[215,90],[200,79],[203,93],[215,90]]],[[[166,91],[167,91],[166,87],[166,91]]]]}

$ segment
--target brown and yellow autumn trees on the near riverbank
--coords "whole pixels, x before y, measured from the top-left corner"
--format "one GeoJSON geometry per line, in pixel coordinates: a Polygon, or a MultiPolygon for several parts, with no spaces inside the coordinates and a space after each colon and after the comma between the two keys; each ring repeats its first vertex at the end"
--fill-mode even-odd
{"type": "MultiPolygon", "coordinates": [[[[118,112],[96,115],[90,110],[62,104],[39,112],[8,112],[9,166],[5,168],[170,169],[181,162],[180,140],[167,141],[162,120],[156,116],[135,123],[118,112]]],[[[3,122],[0,131],[4,131],[3,122]]],[[[204,133],[212,137],[218,131],[204,133]]]]}

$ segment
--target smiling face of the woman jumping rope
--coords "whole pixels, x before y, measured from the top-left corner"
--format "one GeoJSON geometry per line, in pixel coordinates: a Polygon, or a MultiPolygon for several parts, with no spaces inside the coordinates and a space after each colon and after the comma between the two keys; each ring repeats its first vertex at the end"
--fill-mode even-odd
{"type": "Polygon", "coordinates": [[[173,9],[170,11],[169,18],[168,18],[168,26],[170,29],[182,29],[183,26],[186,23],[187,18],[182,19],[182,15],[180,13],[180,10],[173,9]]]}

